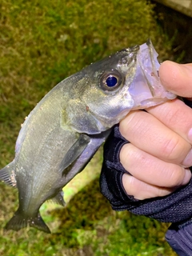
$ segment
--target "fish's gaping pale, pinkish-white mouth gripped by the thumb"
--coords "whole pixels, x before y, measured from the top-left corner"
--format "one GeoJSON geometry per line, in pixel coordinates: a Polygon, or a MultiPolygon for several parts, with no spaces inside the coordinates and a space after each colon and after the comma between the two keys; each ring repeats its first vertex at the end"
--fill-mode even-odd
{"type": "Polygon", "coordinates": [[[158,54],[149,39],[139,47],[136,73],[129,87],[129,93],[134,99],[134,110],[176,98],[175,94],[166,91],[162,86],[158,75],[159,66],[158,54]]]}

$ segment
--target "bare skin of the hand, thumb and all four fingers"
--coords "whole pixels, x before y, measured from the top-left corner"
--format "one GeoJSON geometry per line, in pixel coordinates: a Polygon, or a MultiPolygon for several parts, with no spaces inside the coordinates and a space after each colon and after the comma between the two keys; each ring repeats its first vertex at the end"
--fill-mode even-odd
{"type": "MultiPolygon", "coordinates": [[[[166,90],[192,97],[192,64],[166,61],[159,75],[166,90]]],[[[192,109],[175,99],[146,111],[131,111],[119,125],[130,142],[122,146],[120,161],[132,175],[123,174],[122,183],[127,194],[140,200],[186,185],[192,166],[192,109]]]]}

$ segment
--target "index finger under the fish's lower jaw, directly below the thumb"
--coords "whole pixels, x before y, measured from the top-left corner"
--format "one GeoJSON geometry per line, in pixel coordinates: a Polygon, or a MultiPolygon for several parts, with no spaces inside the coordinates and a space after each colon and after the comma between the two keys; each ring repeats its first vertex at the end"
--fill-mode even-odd
{"type": "Polygon", "coordinates": [[[179,99],[146,110],[163,124],[192,143],[192,109],[179,99]]]}

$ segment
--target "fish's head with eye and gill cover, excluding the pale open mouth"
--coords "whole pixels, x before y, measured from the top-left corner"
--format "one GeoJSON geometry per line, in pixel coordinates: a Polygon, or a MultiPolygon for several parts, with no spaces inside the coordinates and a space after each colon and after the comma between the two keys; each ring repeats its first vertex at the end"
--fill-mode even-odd
{"type": "Polygon", "coordinates": [[[129,86],[137,67],[139,46],[87,66],[78,85],[81,97],[66,106],[67,122],[79,133],[99,134],[118,123],[134,106],[129,86]]]}

